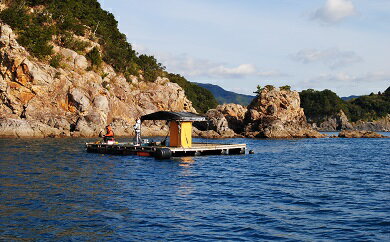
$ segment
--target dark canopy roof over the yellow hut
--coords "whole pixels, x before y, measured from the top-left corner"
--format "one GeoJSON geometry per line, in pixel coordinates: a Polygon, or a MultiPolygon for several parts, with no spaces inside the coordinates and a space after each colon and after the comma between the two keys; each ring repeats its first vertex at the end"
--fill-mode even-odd
{"type": "Polygon", "coordinates": [[[141,120],[206,121],[196,113],[159,111],[141,117],[141,120]]]}

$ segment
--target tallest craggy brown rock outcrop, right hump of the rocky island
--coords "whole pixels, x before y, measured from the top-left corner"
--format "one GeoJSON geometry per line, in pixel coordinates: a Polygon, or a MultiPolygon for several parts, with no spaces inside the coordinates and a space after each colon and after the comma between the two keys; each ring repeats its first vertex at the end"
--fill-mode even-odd
{"type": "Polygon", "coordinates": [[[306,122],[296,91],[264,88],[248,106],[245,136],[258,138],[319,138],[306,122]]]}

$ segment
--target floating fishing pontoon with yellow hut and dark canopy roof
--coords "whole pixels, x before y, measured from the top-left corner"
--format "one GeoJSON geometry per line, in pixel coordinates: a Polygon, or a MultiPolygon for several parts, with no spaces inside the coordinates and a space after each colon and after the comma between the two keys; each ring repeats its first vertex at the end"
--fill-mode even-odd
{"type": "MultiPolygon", "coordinates": [[[[169,122],[169,144],[166,142],[87,143],[87,151],[102,154],[153,156],[169,159],[181,156],[245,154],[246,144],[217,144],[192,142],[192,123],[205,122],[205,117],[189,112],[159,111],[141,117],[145,120],[169,122]]],[[[137,132],[136,132],[137,133],[137,132]]]]}

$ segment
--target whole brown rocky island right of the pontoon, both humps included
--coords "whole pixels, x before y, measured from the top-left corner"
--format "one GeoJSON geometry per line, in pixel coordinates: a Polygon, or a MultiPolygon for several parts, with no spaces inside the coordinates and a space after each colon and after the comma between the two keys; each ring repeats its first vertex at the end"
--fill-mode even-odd
{"type": "Polygon", "coordinates": [[[210,128],[216,133],[211,134],[214,137],[325,137],[307,123],[298,92],[289,89],[265,87],[248,107],[219,105],[209,110],[206,116],[211,121],[210,128]]]}

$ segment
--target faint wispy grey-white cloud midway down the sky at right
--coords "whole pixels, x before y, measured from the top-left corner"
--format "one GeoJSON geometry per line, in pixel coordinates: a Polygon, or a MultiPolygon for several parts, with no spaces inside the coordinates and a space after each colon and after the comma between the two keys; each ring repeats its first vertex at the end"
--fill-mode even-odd
{"type": "Polygon", "coordinates": [[[363,60],[354,51],[341,51],[337,48],[326,50],[303,49],[296,54],[291,55],[291,57],[304,64],[321,62],[332,69],[361,62],[363,60]]]}

